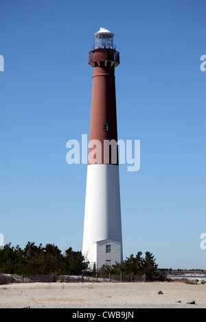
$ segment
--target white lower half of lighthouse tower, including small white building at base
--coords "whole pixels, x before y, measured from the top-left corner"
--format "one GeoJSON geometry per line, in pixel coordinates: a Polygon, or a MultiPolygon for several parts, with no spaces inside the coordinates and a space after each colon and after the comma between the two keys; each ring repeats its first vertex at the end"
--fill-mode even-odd
{"type": "Polygon", "coordinates": [[[122,262],[119,166],[87,166],[82,255],[91,267],[122,262]]]}

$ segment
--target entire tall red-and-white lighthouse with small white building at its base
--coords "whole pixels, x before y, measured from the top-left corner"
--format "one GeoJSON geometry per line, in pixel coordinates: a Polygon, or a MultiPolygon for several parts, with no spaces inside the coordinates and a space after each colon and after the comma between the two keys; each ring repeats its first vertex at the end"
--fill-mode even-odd
{"type": "Polygon", "coordinates": [[[123,257],[115,95],[119,52],[113,37],[100,28],[89,52],[93,82],[82,254],[96,268],[123,257]]]}

